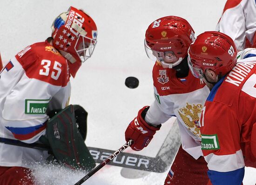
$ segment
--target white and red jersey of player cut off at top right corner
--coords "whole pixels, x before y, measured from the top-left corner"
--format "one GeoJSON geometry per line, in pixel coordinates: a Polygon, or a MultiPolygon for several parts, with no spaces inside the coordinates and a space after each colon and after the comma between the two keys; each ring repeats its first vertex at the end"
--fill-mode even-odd
{"type": "Polygon", "coordinates": [[[227,0],[216,31],[231,37],[238,50],[256,46],[256,1],[227,0]]]}

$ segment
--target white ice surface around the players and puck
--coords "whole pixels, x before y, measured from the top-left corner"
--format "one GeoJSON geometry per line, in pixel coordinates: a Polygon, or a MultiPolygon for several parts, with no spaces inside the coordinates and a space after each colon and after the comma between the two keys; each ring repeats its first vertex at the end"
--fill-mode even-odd
{"type": "MultiPolygon", "coordinates": [[[[70,103],[80,104],[88,111],[86,144],[117,150],[125,144],[128,123],[141,107],[154,100],[154,63],[144,50],[148,25],[163,16],[175,15],[188,20],[198,35],[215,29],[224,3],[225,0],[0,0],[0,52],[7,62],[24,47],[44,41],[51,34],[55,17],[69,6],[88,12],[98,27],[98,43],[92,58],[71,79],[70,103]],[[124,85],[128,76],[140,80],[136,89],[124,85]]],[[[144,150],[134,152],[128,148],[125,152],[155,157],[174,121],[164,124],[144,150]]],[[[72,185],[85,175],[54,166],[38,165],[34,169],[40,185],[72,185]]],[[[84,184],[163,185],[167,173],[168,170],[155,173],[107,165],[84,184]],[[131,175],[134,173],[138,175],[131,175]]],[[[246,168],[243,184],[255,183],[256,170],[246,168]]]]}

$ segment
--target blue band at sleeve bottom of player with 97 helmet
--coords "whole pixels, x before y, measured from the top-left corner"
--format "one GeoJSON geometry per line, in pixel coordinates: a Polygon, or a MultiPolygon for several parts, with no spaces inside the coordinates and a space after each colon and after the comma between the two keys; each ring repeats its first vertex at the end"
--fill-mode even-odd
{"type": "Polygon", "coordinates": [[[212,185],[242,185],[244,167],[231,172],[217,172],[208,170],[212,185]]]}

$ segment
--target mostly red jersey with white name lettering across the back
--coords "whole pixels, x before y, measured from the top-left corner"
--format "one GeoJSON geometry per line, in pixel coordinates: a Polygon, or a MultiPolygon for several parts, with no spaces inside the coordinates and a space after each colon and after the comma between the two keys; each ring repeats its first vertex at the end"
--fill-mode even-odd
{"type": "Polygon", "coordinates": [[[251,50],[213,87],[200,119],[213,185],[241,185],[244,157],[256,161],[255,112],[256,50],[251,50]]]}

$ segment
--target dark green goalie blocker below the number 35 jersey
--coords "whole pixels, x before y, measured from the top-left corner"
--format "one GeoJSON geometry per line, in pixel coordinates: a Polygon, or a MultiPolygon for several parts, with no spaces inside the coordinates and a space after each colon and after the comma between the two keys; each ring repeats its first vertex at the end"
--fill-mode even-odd
{"type": "Polygon", "coordinates": [[[51,118],[47,122],[46,136],[40,141],[49,145],[59,163],[72,169],[90,171],[95,161],[85,145],[88,113],[79,105],[70,105],[65,109],[48,113],[51,118]]]}

